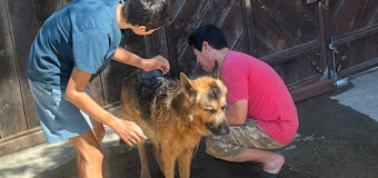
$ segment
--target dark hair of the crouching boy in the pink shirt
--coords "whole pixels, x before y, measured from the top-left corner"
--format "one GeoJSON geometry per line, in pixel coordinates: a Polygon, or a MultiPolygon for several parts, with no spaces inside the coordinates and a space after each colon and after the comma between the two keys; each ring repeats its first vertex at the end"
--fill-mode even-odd
{"type": "Polygon", "coordinates": [[[189,36],[188,43],[195,49],[202,51],[202,42],[207,41],[215,49],[228,48],[223,32],[213,24],[199,27],[189,36]]]}

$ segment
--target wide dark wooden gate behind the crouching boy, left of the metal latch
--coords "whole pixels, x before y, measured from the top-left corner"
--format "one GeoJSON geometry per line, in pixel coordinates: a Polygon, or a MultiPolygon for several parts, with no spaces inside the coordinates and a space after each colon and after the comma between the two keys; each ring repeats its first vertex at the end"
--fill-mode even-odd
{"type": "MultiPolygon", "coordinates": [[[[170,27],[147,38],[149,56],[169,58],[171,75],[198,72],[189,34],[201,24],[219,27],[232,50],[271,65],[289,88],[322,78],[326,53],[320,55],[318,4],[302,0],[175,0],[170,27]]],[[[324,42],[324,44],[326,44],[324,42]]],[[[327,77],[326,77],[327,78],[327,77]]],[[[330,86],[327,82],[327,86],[330,86]]]]}

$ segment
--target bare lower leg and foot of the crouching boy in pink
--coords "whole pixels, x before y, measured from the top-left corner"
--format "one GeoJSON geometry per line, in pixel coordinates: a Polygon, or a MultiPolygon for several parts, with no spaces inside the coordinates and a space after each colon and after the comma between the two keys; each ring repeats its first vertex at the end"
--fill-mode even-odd
{"type": "Polygon", "coordinates": [[[245,152],[236,157],[223,158],[228,161],[245,162],[257,161],[262,164],[262,170],[269,174],[278,174],[285,162],[285,158],[281,155],[277,155],[262,149],[247,148],[245,152]]]}

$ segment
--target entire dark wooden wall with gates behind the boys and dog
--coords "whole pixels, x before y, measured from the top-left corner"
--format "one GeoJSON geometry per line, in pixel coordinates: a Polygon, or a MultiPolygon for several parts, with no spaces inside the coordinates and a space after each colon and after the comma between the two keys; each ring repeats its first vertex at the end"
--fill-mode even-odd
{"type": "MultiPolygon", "coordinates": [[[[203,71],[187,39],[199,26],[213,23],[222,29],[231,49],[271,65],[292,90],[314,90],[326,79],[335,80],[329,75],[334,70],[331,38],[340,78],[378,66],[378,1],[325,0],[306,4],[307,1],[171,0],[173,20],[169,27],[147,37],[128,31],[122,46],[146,58],[162,55],[170,61],[171,76],[181,71],[191,76],[203,71]]],[[[68,2],[0,1],[0,155],[3,148],[10,148],[4,146],[7,142],[36,132],[41,136],[24,68],[39,28],[68,2]]],[[[101,106],[117,103],[122,78],[133,69],[111,62],[90,83],[94,100],[101,106]]],[[[310,96],[301,96],[306,97],[310,96]]],[[[28,138],[31,141],[18,149],[43,141],[43,137],[34,138],[38,139],[28,138]]]]}

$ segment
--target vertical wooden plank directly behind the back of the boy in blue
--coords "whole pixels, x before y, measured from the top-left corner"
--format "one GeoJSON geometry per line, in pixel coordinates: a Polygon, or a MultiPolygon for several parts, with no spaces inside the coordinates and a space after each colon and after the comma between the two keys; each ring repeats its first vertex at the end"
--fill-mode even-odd
{"type": "Polygon", "coordinates": [[[26,63],[30,46],[43,21],[61,4],[59,1],[6,0],[8,20],[18,67],[18,77],[22,93],[28,129],[39,126],[32,96],[26,77],[26,63]]]}

